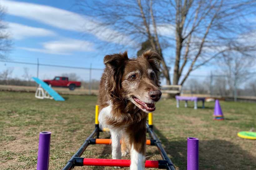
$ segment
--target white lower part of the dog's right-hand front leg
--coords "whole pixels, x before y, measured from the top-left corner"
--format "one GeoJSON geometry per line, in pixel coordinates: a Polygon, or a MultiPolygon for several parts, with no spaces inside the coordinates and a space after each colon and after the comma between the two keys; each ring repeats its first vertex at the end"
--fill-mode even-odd
{"type": "Polygon", "coordinates": [[[133,145],[131,146],[131,164],[130,170],[145,170],[145,156],[142,153],[138,153],[133,145]]]}

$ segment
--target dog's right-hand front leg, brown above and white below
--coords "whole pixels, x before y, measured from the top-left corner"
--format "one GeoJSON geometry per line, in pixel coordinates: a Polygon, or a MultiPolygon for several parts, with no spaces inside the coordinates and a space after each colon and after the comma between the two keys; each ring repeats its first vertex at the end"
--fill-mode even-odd
{"type": "Polygon", "coordinates": [[[129,128],[132,129],[130,131],[130,170],[145,170],[146,127],[143,121],[145,120],[129,128]]]}

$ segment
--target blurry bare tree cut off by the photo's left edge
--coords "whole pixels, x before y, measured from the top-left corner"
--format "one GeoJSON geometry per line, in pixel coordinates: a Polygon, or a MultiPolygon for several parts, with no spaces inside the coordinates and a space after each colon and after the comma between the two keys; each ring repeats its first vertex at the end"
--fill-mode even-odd
{"type": "Polygon", "coordinates": [[[5,9],[0,5],[0,59],[6,57],[6,53],[11,49],[11,39],[7,32],[7,24],[3,22],[5,9]]]}

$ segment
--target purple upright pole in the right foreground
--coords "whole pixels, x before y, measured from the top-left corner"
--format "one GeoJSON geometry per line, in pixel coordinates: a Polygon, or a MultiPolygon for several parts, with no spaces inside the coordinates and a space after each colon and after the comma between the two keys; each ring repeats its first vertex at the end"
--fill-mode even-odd
{"type": "Polygon", "coordinates": [[[188,138],[187,170],[199,170],[198,138],[188,138]]]}

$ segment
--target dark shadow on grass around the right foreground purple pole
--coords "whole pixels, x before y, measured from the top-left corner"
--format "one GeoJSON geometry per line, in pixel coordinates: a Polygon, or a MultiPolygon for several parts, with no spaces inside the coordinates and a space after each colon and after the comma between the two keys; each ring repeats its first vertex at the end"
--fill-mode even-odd
{"type": "MultiPolygon", "coordinates": [[[[154,127],[155,133],[165,145],[166,153],[177,168],[185,170],[187,167],[187,139],[169,142],[161,132],[154,127]]],[[[200,140],[199,139],[199,169],[204,170],[253,170],[256,158],[238,145],[229,141],[200,140]]]]}

